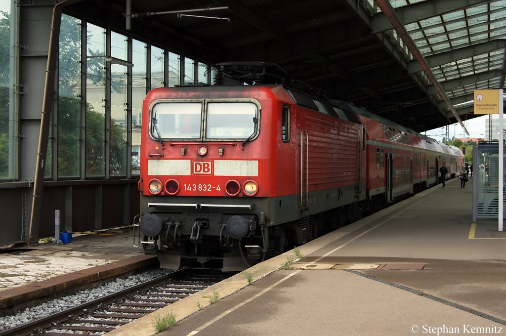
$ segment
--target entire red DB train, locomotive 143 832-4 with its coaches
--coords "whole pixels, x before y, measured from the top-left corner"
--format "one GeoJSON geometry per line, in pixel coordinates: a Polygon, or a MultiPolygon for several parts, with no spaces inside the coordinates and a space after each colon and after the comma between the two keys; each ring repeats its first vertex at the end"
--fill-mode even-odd
{"type": "Polygon", "coordinates": [[[282,85],[154,89],[141,144],[136,246],[169,269],[244,269],[463,161],[454,147],[282,85]]]}

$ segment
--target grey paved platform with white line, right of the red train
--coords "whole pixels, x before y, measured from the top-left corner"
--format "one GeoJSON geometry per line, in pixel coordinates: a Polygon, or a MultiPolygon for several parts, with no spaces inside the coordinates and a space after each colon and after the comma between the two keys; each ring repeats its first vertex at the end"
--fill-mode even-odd
{"type": "MultiPolygon", "coordinates": [[[[159,334],[504,334],[506,232],[471,222],[470,182],[449,180],[304,244],[287,269],[293,250],[162,308],[154,314],[178,322],[159,334]]],[[[151,315],[108,334],[150,335],[151,315]]]]}

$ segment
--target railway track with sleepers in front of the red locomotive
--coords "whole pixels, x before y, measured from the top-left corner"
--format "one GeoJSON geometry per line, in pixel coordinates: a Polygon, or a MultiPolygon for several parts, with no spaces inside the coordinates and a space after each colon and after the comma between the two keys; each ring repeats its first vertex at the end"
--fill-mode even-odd
{"type": "Polygon", "coordinates": [[[183,269],[0,331],[0,336],[105,334],[229,276],[220,271],[183,269]]]}

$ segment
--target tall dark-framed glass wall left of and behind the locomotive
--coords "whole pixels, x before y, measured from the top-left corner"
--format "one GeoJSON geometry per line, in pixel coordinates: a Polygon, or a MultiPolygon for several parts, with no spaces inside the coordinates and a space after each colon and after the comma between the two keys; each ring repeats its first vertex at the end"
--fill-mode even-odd
{"type": "MultiPolygon", "coordinates": [[[[14,99],[19,55],[11,48],[18,30],[11,7],[16,6],[0,0],[0,180],[5,181],[16,180],[19,170],[15,155],[19,112],[14,99]]],[[[66,14],[58,53],[45,160],[45,177],[52,180],[138,177],[147,91],[179,85],[182,64],[186,82],[207,82],[204,63],[189,58],[181,63],[176,53],[66,14]]]]}

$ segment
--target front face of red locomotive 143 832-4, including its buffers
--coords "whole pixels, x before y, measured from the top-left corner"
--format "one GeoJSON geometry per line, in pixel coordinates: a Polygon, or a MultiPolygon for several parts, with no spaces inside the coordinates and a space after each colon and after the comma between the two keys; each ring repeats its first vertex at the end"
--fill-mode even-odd
{"type": "Polygon", "coordinates": [[[242,270],[267,250],[258,229],[268,185],[258,155],[262,106],[209,89],[176,88],[163,98],[153,90],[144,102],[137,245],[163,268],[224,262],[224,270],[242,270]]]}

